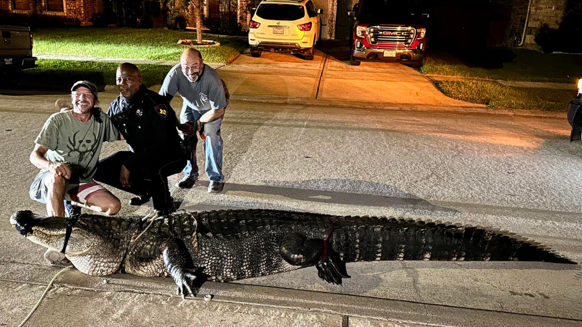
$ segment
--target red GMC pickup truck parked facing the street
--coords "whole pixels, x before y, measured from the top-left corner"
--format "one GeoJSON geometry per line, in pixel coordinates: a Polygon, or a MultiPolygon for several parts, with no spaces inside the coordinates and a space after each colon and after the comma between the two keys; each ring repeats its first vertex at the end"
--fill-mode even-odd
{"type": "Polygon", "coordinates": [[[392,61],[423,65],[427,50],[425,21],[430,14],[420,0],[360,0],[350,17],[350,65],[392,61]]]}

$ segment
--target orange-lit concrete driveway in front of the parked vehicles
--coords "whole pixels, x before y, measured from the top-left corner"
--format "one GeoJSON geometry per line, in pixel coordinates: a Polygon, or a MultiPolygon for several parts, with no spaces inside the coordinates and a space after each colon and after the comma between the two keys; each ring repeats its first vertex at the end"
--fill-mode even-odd
{"type": "MultiPolygon", "coordinates": [[[[301,55],[249,50],[219,67],[232,94],[411,105],[479,106],[451,99],[418,70],[400,63],[350,66],[347,47],[323,45],[313,61],[301,55]]],[[[252,98],[248,98],[252,99],[252,98]]]]}

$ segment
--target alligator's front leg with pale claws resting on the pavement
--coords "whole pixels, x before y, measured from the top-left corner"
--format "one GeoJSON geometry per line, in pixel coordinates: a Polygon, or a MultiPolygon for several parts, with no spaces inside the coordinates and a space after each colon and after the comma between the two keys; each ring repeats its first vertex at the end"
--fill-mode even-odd
{"type": "Polygon", "coordinates": [[[176,285],[178,285],[176,293],[182,298],[188,294],[192,294],[193,297],[196,296],[192,292],[191,285],[197,277],[194,275],[190,254],[182,240],[169,239],[166,241],[163,254],[164,265],[172,275],[176,285]]]}

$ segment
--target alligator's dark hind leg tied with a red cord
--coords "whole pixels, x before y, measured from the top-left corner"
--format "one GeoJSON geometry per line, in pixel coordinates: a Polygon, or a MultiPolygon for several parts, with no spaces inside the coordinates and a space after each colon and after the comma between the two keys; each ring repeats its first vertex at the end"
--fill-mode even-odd
{"type": "Polygon", "coordinates": [[[279,253],[291,265],[315,265],[317,274],[328,283],[342,285],[342,278],[350,278],[346,263],[333,251],[327,239],[307,239],[299,233],[291,233],[281,241],[279,253]]]}

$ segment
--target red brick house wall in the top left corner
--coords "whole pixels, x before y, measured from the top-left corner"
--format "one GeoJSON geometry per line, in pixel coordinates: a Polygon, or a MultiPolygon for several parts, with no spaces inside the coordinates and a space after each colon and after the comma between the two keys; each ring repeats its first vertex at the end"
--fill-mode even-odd
{"type": "Polygon", "coordinates": [[[63,16],[67,18],[79,19],[81,26],[91,25],[91,17],[95,13],[101,13],[104,10],[101,0],[63,0],[63,12],[48,12],[47,2],[45,0],[29,0],[30,10],[15,10],[12,8],[12,0],[0,0],[0,10],[7,10],[10,13],[19,13],[21,15],[38,15],[63,16]]]}

